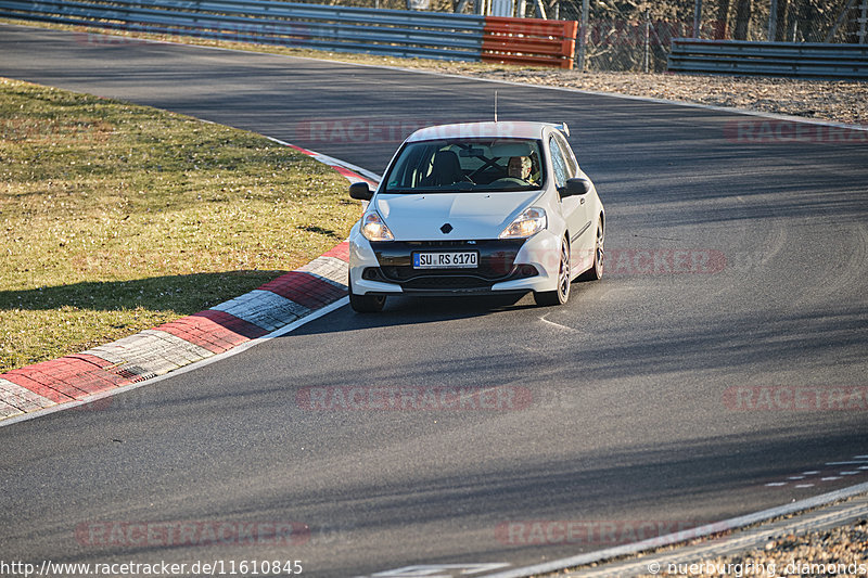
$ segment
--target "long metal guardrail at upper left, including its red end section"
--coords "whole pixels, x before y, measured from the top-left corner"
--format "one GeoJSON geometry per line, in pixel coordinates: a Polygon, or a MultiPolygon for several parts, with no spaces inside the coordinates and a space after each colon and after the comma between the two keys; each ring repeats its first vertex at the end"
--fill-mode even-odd
{"type": "Polygon", "coordinates": [[[577,26],[272,0],[0,0],[0,16],[335,52],[566,68],[572,67],[577,26]]]}

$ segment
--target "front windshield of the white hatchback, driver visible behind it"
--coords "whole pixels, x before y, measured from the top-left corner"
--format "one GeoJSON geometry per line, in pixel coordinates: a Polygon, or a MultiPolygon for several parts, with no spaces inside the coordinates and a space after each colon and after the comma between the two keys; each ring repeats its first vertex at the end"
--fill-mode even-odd
{"type": "Polygon", "coordinates": [[[532,191],[545,181],[539,141],[448,139],[406,145],[386,193],[532,191]]]}

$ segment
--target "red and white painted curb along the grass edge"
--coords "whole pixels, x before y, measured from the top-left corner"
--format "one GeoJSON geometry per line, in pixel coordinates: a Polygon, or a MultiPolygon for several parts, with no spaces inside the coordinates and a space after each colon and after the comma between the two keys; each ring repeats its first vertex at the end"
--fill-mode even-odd
{"type": "MultiPolygon", "coordinates": [[[[349,181],[379,177],[336,158],[270,139],[324,163],[349,181]]],[[[226,303],[80,354],[0,374],[0,421],[105,395],[219,356],[332,306],[347,294],[349,246],[226,303]]]]}

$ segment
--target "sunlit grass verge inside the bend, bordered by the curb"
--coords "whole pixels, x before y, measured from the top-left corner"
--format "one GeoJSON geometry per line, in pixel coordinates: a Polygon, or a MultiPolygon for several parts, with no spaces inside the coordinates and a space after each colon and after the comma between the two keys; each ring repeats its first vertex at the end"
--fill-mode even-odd
{"type": "Polygon", "coordinates": [[[0,372],[256,288],[359,214],[260,136],[0,78],[0,372]]]}

